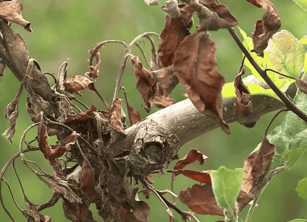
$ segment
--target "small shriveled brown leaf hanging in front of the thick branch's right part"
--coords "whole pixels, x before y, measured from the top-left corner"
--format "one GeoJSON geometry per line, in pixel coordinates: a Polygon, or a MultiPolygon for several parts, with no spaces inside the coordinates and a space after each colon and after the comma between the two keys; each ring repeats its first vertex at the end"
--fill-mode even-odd
{"type": "Polygon", "coordinates": [[[252,105],[251,105],[251,92],[248,90],[247,86],[244,85],[242,81],[242,75],[244,75],[245,69],[235,77],[235,115],[241,118],[247,118],[252,115],[252,105]]]}

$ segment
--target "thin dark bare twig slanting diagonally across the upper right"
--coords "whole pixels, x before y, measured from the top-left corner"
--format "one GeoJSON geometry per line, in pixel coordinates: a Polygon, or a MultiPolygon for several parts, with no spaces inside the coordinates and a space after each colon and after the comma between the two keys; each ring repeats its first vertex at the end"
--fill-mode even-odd
{"type": "Polygon", "coordinates": [[[298,115],[301,119],[303,119],[305,122],[307,122],[307,115],[303,113],[299,108],[297,108],[288,97],[286,97],[285,94],[283,94],[279,88],[274,84],[274,82],[266,75],[266,70],[262,70],[260,66],[256,63],[254,58],[251,56],[251,54],[247,51],[243,43],[241,42],[240,38],[238,37],[237,33],[235,33],[235,30],[233,28],[228,29],[229,33],[235,40],[235,42],[238,44],[239,48],[243,52],[243,54],[246,56],[246,58],[250,61],[252,66],[256,69],[256,71],[259,73],[259,75],[266,81],[266,83],[270,86],[270,88],[278,95],[278,97],[282,100],[282,102],[285,103],[286,107],[289,108],[291,111],[293,111],[296,115],[298,115]]]}

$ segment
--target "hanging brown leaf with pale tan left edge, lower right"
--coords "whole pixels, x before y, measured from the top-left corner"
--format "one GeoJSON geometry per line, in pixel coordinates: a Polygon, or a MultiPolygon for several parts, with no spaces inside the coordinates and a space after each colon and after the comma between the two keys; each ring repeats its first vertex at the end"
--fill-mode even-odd
{"type": "Polygon", "coordinates": [[[266,136],[263,137],[260,149],[244,160],[243,181],[241,190],[250,193],[253,188],[262,182],[270,169],[275,146],[270,144],[266,136]]]}

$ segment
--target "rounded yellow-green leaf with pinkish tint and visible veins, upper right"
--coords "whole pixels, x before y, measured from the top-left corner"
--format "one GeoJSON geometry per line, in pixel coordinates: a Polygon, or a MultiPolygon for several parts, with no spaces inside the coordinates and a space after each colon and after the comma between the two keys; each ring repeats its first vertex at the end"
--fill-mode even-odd
{"type": "Polygon", "coordinates": [[[268,53],[275,70],[283,74],[300,77],[304,65],[304,46],[289,31],[275,33],[268,42],[268,53]]]}

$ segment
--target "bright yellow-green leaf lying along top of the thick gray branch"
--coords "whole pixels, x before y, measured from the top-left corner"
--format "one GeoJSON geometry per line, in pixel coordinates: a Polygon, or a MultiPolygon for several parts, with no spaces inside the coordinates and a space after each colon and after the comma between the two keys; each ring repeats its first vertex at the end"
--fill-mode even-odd
{"type": "MultiPolygon", "coordinates": [[[[244,83],[244,84],[248,87],[249,91],[251,92],[251,95],[267,95],[282,102],[282,100],[279,99],[279,97],[274,93],[272,89],[264,89],[257,84],[251,84],[251,83],[244,83]]],[[[222,96],[223,98],[236,97],[235,87],[233,82],[224,84],[222,88],[222,96]]]]}

